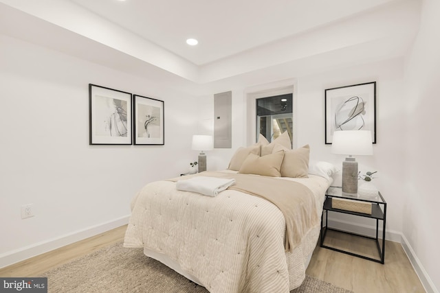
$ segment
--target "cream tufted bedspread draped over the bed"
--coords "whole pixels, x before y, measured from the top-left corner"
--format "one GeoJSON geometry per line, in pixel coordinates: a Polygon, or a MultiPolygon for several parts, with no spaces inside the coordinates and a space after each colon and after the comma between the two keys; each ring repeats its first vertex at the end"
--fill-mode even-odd
{"type": "MultiPolygon", "coordinates": [[[[322,203],[329,181],[280,178],[303,183],[322,203]]],[[[285,251],[285,220],[272,203],[225,190],[216,197],[178,191],[167,180],[148,183],[131,202],[125,247],[164,253],[215,292],[289,292],[305,278],[305,263],[318,241],[311,228],[292,252],[285,251]]],[[[274,187],[276,188],[276,187],[274,187]]]]}

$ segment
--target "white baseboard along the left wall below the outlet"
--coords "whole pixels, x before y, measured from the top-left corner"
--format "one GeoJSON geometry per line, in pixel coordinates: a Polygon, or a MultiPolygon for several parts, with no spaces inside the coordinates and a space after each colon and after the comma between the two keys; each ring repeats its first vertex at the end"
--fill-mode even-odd
{"type": "Polygon", "coordinates": [[[30,246],[25,246],[17,250],[12,250],[8,253],[3,253],[0,255],[0,268],[10,266],[19,261],[24,261],[30,257],[35,257],[36,255],[41,255],[42,253],[47,253],[48,251],[54,250],[78,242],[80,240],[86,239],[98,235],[100,233],[107,232],[111,229],[118,228],[125,224],[128,224],[130,215],[125,215],[121,218],[111,220],[109,222],[104,222],[95,226],[90,226],[83,230],[75,231],[60,237],[47,239],[43,242],[32,244],[30,246]]]}

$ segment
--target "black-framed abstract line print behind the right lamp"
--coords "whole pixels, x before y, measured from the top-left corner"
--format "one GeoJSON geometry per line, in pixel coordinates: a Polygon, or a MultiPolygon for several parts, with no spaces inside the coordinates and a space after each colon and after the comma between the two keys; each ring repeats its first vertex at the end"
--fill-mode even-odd
{"type": "Polygon", "coordinates": [[[325,90],[325,143],[338,130],[370,130],[376,143],[376,82],[325,90]]]}

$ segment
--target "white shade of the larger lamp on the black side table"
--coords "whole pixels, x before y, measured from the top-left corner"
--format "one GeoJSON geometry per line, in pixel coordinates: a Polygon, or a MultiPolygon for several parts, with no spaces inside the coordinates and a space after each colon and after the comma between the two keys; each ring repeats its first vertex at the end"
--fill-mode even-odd
{"type": "Polygon", "coordinates": [[[333,132],[333,154],[371,155],[373,140],[369,130],[343,130],[333,132]]]}

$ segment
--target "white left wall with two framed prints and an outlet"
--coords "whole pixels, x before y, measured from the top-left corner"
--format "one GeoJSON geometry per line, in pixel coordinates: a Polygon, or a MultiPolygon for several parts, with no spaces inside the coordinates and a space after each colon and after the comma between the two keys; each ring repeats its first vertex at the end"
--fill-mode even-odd
{"type": "Polygon", "coordinates": [[[126,223],[140,187],[197,158],[193,97],[4,35],[0,58],[0,267],[126,223]],[[89,83],[164,100],[165,145],[89,145],[89,83]]]}

